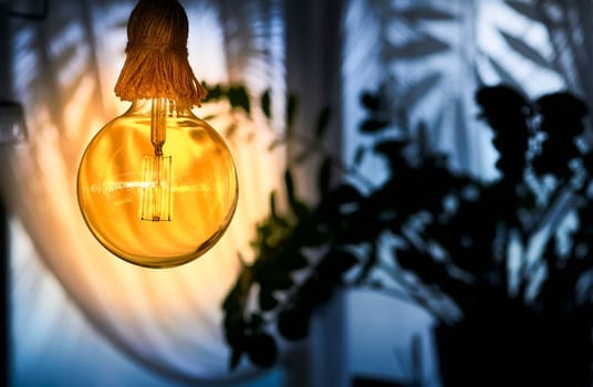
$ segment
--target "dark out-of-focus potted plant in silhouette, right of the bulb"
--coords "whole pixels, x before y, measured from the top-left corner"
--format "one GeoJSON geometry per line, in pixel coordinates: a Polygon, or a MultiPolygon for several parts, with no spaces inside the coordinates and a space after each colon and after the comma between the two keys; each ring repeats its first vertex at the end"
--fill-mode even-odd
{"type": "MultiPolygon", "coordinates": [[[[389,175],[368,185],[356,165],[326,157],[319,200],[309,203],[287,169],[288,208],[271,195],[256,260],[222,305],[230,367],[246,354],[272,366],[280,342],[304,338],[337,290],[371,286],[440,321],[445,386],[589,386],[593,157],[581,139],[583,102],[568,92],[529,101],[504,85],[478,90],[499,153],[499,178],[483,181],[452,171],[425,128],[418,138],[394,128],[379,93],[361,101],[361,135],[373,146],[356,161],[381,157],[389,175]],[[346,178],[335,178],[336,167],[346,178]]],[[[327,111],[319,123],[322,136],[327,111]]]]}

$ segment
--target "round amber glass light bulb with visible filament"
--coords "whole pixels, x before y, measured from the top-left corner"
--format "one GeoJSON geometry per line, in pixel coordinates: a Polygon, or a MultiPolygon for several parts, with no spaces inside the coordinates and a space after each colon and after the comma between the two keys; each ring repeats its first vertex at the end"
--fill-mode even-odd
{"type": "Polygon", "coordinates": [[[112,253],[148,268],[176,266],[207,252],[237,208],[232,156],[191,111],[138,100],[105,125],[82,157],[79,206],[112,253]]]}

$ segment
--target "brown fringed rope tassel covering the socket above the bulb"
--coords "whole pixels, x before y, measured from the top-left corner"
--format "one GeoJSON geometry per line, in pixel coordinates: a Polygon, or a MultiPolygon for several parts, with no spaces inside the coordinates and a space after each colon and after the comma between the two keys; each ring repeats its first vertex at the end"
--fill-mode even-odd
{"type": "Polygon", "coordinates": [[[188,31],[187,14],[177,0],[139,0],[127,23],[126,61],[115,95],[199,106],[206,90],[187,60],[188,31]]]}

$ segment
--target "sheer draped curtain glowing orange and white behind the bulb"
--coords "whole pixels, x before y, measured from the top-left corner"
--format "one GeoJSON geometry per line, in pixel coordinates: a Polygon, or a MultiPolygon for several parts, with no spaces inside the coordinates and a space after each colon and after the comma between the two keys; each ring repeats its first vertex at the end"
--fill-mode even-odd
{"type": "MultiPolygon", "coordinates": [[[[114,96],[113,86],[135,3],[49,1],[43,18],[21,18],[17,12],[41,12],[40,3],[4,6],[12,13],[7,18],[10,33],[0,38],[8,40],[10,50],[9,88],[24,105],[29,132],[25,143],[2,149],[0,178],[7,206],[32,241],[32,248],[24,249],[29,257],[15,260],[11,274],[17,284],[29,279],[35,286],[14,307],[35,303],[48,307],[45,317],[60,315],[52,312],[56,295],[39,285],[45,283],[43,275],[52,275],[101,335],[148,369],[186,381],[245,378],[256,373],[247,364],[228,372],[220,304],[241,264],[238,253],[250,259],[252,226],[280,181],[282,151],[268,150],[279,118],[263,121],[258,106],[252,119],[229,115],[230,106],[223,103],[196,111],[198,116],[215,115],[211,124],[222,134],[239,125],[235,134],[227,133],[227,140],[237,164],[240,199],[222,241],[195,262],[168,270],[125,263],[94,240],[77,208],[76,168],[85,145],[128,107],[114,96]],[[32,262],[38,259],[42,265],[32,262]]],[[[240,82],[254,94],[283,94],[280,1],[181,3],[190,21],[189,62],[199,80],[240,82]]],[[[42,332],[50,321],[27,326],[42,332]]]]}

